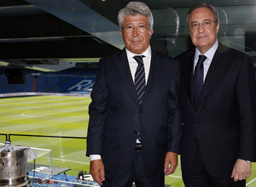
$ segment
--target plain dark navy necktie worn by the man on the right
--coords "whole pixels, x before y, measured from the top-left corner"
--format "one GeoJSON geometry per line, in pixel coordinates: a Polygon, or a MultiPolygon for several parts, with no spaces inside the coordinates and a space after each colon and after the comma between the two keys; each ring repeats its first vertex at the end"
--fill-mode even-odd
{"type": "Polygon", "coordinates": [[[194,105],[197,106],[198,99],[201,94],[204,79],[204,65],[203,62],[207,59],[205,55],[199,55],[197,64],[195,65],[195,73],[193,77],[193,94],[194,94],[194,105]]]}

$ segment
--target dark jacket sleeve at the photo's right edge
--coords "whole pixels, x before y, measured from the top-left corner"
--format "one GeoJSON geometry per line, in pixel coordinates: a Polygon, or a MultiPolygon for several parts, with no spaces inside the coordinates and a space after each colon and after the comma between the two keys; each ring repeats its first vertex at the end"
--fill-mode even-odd
{"type": "Polygon", "coordinates": [[[256,82],[252,59],[246,55],[236,84],[241,128],[238,157],[256,161],[256,82]]]}

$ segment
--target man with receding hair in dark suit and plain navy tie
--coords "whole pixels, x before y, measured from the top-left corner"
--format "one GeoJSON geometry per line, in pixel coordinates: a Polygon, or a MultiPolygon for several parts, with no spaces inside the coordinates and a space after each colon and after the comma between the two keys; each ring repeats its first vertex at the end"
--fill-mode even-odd
{"type": "Polygon", "coordinates": [[[195,4],[187,24],[195,48],[177,56],[183,182],[187,187],[245,186],[256,149],[253,61],[218,42],[218,12],[212,5],[195,4]],[[205,59],[197,65],[199,55],[205,59]]]}

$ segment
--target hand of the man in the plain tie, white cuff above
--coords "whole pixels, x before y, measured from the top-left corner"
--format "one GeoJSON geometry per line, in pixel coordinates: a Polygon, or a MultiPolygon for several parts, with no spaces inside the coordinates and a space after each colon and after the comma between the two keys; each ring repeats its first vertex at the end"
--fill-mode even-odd
{"type": "Polygon", "coordinates": [[[247,161],[237,159],[235,166],[233,168],[233,172],[231,178],[234,178],[234,181],[246,179],[250,176],[252,170],[252,163],[248,163],[247,161]]]}

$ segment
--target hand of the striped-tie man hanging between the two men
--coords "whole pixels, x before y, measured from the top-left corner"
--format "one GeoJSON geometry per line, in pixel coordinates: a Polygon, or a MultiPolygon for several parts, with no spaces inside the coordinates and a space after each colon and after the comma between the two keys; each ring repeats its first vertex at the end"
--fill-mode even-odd
{"type": "Polygon", "coordinates": [[[166,162],[164,166],[164,173],[166,175],[172,174],[175,172],[176,167],[177,167],[177,153],[167,152],[166,162]]]}

